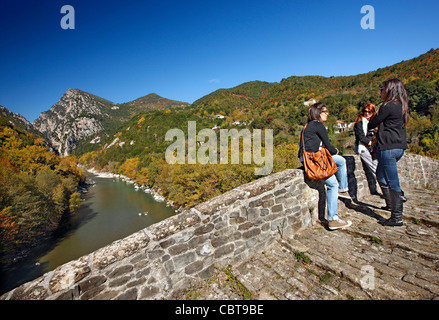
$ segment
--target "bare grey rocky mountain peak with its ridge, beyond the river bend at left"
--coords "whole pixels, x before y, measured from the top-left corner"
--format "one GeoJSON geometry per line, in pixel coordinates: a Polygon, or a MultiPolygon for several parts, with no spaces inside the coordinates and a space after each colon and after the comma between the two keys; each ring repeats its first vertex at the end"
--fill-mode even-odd
{"type": "Polygon", "coordinates": [[[68,89],[49,111],[33,122],[63,156],[107,137],[123,122],[141,110],[187,106],[150,94],[132,102],[117,104],[79,89],[68,89]]]}

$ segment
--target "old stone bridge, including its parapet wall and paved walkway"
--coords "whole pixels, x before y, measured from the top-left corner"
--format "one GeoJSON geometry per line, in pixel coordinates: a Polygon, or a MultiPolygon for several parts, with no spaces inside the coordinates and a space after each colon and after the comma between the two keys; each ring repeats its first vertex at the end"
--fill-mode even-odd
{"type": "Polygon", "coordinates": [[[345,156],[347,230],[322,224],[321,182],[290,169],[260,178],[59,266],[1,300],[433,299],[439,296],[439,161],[399,162],[405,226],[345,156]]]}

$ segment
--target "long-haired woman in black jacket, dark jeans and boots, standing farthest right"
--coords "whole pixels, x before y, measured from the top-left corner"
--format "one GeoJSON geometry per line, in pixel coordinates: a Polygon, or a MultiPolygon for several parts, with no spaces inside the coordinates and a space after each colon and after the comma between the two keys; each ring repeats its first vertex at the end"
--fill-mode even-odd
{"type": "Polygon", "coordinates": [[[399,79],[384,81],[381,86],[383,106],[378,114],[369,122],[368,129],[379,125],[376,177],[384,190],[388,188],[390,195],[391,217],[384,226],[402,226],[403,199],[399,184],[397,162],[408,148],[406,127],[409,120],[407,91],[399,79]]]}

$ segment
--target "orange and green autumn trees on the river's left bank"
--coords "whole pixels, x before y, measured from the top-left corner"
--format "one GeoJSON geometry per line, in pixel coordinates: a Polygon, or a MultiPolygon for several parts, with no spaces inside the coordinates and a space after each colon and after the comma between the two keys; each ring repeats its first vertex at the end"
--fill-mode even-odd
{"type": "Polygon", "coordinates": [[[74,157],[0,117],[0,263],[58,227],[80,203],[83,175],[74,157]]]}

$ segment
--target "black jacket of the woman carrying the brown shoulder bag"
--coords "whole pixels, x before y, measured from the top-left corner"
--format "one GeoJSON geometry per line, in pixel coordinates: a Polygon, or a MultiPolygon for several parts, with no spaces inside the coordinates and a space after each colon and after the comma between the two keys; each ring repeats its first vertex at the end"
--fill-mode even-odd
{"type": "MultiPolygon", "coordinates": [[[[302,134],[300,135],[300,147],[299,147],[299,159],[302,160],[302,153],[303,153],[303,145],[302,145],[302,134]]],[[[333,147],[331,145],[331,142],[329,141],[328,132],[326,131],[325,126],[320,121],[310,121],[308,122],[308,125],[305,128],[305,136],[304,136],[304,142],[305,142],[305,150],[307,152],[317,152],[320,148],[320,142],[322,142],[322,146],[328,149],[329,153],[331,155],[337,154],[338,150],[337,148],[333,147]]]]}

